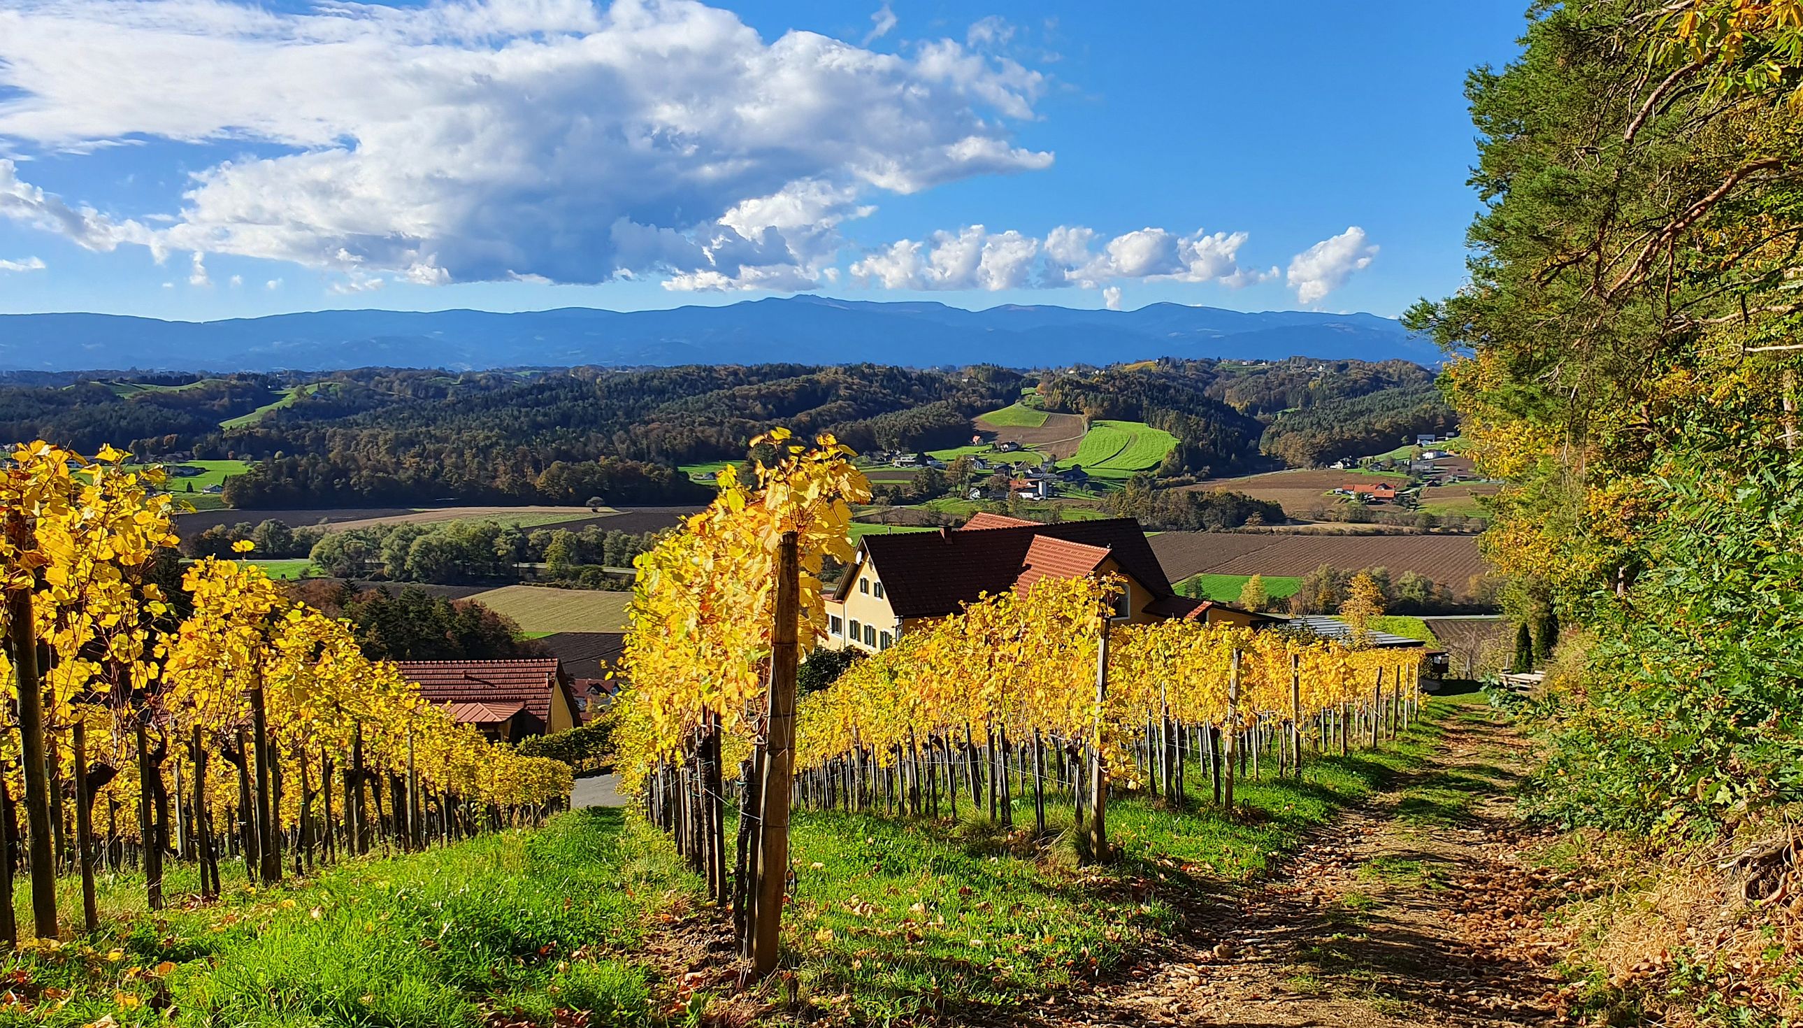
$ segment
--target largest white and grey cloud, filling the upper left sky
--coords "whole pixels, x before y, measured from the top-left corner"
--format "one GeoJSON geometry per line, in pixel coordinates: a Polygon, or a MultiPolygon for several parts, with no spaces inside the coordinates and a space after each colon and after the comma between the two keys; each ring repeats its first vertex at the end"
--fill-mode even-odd
{"type": "Polygon", "coordinates": [[[14,0],[7,150],[168,139],[234,157],[142,222],[47,197],[0,161],[0,215],[88,249],[328,269],[348,290],[799,289],[826,281],[838,225],[883,195],[1049,166],[1008,130],[1044,88],[956,40],[764,40],[694,0],[14,0]]]}

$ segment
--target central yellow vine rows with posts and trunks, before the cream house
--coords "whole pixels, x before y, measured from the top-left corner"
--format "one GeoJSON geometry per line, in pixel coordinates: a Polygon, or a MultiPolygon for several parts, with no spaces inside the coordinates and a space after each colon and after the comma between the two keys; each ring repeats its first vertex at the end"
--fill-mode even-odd
{"type": "Polygon", "coordinates": [[[1199,761],[1215,803],[1233,806],[1248,761],[1255,776],[1264,754],[1300,774],[1304,752],[1376,747],[1417,714],[1419,649],[1114,624],[1118,579],[1044,577],[912,628],[802,700],[784,734],[795,658],[826,638],[822,557],[849,557],[846,505],[869,487],[831,436],[773,442],[777,465],[759,464],[754,483],[721,473],[714,507],[638,559],[615,732],[624,788],[730,905],[755,974],[775,967],[792,788],[804,806],[927,817],[943,797],[954,819],[968,792],[1004,826],[1031,790],[1039,831],[1064,794],[1093,858],[1107,858],[1112,790],[1183,799],[1199,761]],[[779,602],[784,581],[792,602],[779,602]]]}

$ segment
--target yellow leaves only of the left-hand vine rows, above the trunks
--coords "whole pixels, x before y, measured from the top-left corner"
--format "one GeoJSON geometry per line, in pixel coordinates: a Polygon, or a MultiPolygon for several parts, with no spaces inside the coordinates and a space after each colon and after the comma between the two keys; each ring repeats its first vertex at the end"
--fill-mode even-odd
{"type": "MultiPolygon", "coordinates": [[[[249,689],[261,687],[288,781],[305,781],[303,761],[317,770],[330,756],[343,766],[361,727],[368,768],[400,772],[411,739],[416,772],[436,792],[496,804],[568,795],[568,765],[517,756],[456,725],[391,664],[366,660],[344,622],[283,599],[254,564],[207,559],[189,568],[182,584],[193,615],[168,631],[168,597],[146,570],[177,543],[169,498],[157,491],[160,471],[126,471],[124,458],[114,447],[90,460],[36,442],[16,447],[0,478],[0,586],[29,593],[36,637],[50,653],[41,675],[52,754],[67,754],[67,729],[79,721],[90,759],[130,768],[144,721],[150,745],[168,754],[164,781],[173,774],[191,783],[195,729],[222,754],[249,725],[249,689]]],[[[7,628],[9,611],[0,610],[7,628]]],[[[0,655],[7,707],[16,687],[0,655]]],[[[18,795],[18,732],[0,738],[14,757],[5,788],[18,795]]],[[[238,803],[229,776],[209,777],[218,812],[238,803]]],[[[137,792],[139,777],[119,774],[99,792],[99,808],[117,801],[135,810],[137,792]]],[[[288,824],[299,817],[299,794],[285,790],[288,824]]],[[[133,824],[121,828],[130,835],[133,824]]]]}

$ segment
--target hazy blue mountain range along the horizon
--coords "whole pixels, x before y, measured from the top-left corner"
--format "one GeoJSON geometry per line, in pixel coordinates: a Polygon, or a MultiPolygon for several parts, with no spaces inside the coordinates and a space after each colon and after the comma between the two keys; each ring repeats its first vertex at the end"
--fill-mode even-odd
{"type": "Polygon", "coordinates": [[[272,372],[566,364],[1111,364],[1150,357],[1323,357],[1433,364],[1433,343],[1374,314],[880,303],[817,296],[674,310],[319,310],[231,321],[0,316],[0,370],[272,372]]]}

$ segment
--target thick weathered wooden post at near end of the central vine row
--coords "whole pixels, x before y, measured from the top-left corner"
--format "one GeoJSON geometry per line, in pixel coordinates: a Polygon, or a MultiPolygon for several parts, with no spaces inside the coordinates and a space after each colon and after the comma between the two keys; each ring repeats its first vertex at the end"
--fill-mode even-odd
{"type": "Polygon", "coordinates": [[[777,968],[783,889],[788,886],[790,788],[795,779],[795,667],[801,655],[801,545],[784,532],[777,545],[775,624],[770,631],[770,721],[764,727],[764,781],[759,790],[757,895],[752,907],[752,974],[777,968]]]}

